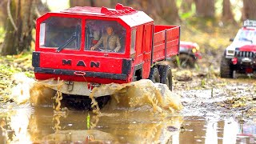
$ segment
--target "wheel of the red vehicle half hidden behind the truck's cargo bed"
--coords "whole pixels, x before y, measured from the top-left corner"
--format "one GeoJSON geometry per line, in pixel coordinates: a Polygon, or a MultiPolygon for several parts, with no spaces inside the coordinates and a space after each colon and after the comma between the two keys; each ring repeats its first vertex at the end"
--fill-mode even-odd
{"type": "Polygon", "coordinates": [[[189,54],[179,54],[178,58],[182,68],[194,68],[195,59],[189,54]]]}

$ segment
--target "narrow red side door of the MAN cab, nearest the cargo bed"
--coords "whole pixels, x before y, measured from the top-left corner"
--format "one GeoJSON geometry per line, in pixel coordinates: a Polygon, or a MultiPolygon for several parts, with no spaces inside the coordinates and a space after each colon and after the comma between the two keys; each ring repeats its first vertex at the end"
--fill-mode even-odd
{"type": "Polygon", "coordinates": [[[152,34],[153,34],[153,24],[150,23],[150,24],[144,25],[143,44],[142,44],[142,54],[143,54],[142,78],[148,78],[150,74],[152,34]]]}

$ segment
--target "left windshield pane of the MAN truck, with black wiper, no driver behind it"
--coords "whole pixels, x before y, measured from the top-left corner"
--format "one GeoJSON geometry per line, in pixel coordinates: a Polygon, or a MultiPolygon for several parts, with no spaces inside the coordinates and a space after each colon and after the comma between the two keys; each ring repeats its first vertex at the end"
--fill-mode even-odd
{"type": "Polygon", "coordinates": [[[50,17],[40,24],[40,47],[78,50],[81,47],[81,19],[50,17]]]}

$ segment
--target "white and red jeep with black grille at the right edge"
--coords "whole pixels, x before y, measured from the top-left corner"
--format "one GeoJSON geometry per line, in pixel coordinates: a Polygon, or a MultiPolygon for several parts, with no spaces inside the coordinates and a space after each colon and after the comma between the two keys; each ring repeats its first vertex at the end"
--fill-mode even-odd
{"type": "Polygon", "coordinates": [[[238,74],[255,74],[256,71],[256,21],[246,20],[236,37],[230,38],[222,57],[222,78],[237,78],[238,74]]]}

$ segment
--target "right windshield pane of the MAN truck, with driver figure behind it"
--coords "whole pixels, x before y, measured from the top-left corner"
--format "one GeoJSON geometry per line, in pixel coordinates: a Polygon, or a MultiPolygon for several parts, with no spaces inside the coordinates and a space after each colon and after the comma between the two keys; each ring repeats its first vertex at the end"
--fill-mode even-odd
{"type": "Polygon", "coordinates": [[[85,50],[124,53],[126,29],[115,21],[86,20],[85,50]]]}

